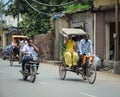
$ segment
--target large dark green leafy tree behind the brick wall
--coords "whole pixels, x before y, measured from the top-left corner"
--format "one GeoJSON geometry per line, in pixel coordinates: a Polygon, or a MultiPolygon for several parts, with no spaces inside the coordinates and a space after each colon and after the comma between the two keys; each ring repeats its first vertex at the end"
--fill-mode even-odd
{"type": "MultiPolygon", "coordinates": [[[[6,15],[16,17],[18,13],[22,15],[23,21],[19,23],[25,33],[29,36],[34,34],[47,33],[50,29],[50,15],[63,11],[70,5],[64,6],[47,6],[60,5],[74,0],[36,0],[46,5],[40,5],[35,0],[15,0],[6,11],[6,15]]],[[[77,3],[90,4],[92,0],[78,0],[77,3]]],[[[76,4],[77,5],[77,4],[76,4]]],[[[75,7],[75,6],[74,6],[75,7]]]]}

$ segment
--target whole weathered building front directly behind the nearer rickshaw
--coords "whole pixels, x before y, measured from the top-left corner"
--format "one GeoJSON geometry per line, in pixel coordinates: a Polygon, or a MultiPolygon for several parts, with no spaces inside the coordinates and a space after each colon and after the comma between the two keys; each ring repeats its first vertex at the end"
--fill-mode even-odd
{"type": "Polygon", "coordinates": [[[54,33],[54,59],[62,59],[62,45],[64,37],[60,34],[62,28],[82,28],[93,41],[94,50],[94,15],[91,10],[81,10],[75,13],[65,13],[52,19],[54,33]]]}

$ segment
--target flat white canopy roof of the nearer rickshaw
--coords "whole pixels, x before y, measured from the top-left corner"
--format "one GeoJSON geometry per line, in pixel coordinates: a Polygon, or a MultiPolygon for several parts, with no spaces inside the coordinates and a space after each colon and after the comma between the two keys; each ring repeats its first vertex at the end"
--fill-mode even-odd
{"type": "Polygon", "coordinates": [[[65,37],[67,37],[68,35],[84,35],[84,34],[87,34],[82,29],[74,29],[74,28],[62,28],[62,31],[60,33],[65,37]]]}

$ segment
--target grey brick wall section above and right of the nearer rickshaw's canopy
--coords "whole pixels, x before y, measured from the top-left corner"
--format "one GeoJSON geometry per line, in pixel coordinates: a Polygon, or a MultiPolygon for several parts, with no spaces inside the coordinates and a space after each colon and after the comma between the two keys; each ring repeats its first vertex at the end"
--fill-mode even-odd
{"type": "Polygon", "coordinates": [[[92,41],[94,41],[93,18],[93,14],[91,12],[73,14],[71,27],[80,27],[83,25],[84,30],[90,35],[92,41]]]}

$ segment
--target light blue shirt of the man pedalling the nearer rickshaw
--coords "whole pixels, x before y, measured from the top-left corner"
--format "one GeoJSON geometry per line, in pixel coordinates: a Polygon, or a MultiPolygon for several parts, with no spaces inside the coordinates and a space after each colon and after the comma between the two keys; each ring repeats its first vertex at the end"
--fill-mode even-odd
{"type": "Polygon", "coordinates": [[[92,54],[92,41],[89,39],[87,42],[85,39],[82,39],[78,44],[78,51],[80,54],[92,54]]]}

